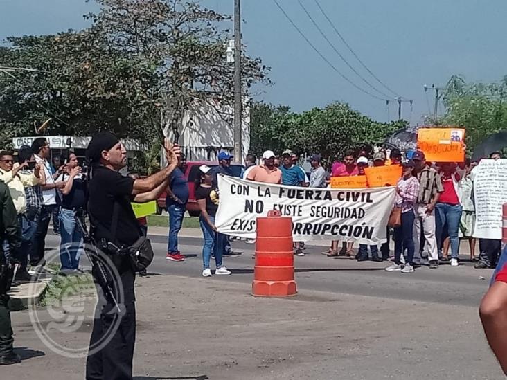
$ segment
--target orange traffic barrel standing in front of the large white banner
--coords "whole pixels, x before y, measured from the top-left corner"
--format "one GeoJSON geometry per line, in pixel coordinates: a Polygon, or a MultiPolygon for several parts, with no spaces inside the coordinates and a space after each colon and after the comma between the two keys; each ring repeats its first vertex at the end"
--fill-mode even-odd
{"type": "Polygon", "coordinates": [[[280,211],[269,211],[257,218],[256,263],[253,267],[253,296],[294,296],[294,253],[292,219],[280,211]]]}

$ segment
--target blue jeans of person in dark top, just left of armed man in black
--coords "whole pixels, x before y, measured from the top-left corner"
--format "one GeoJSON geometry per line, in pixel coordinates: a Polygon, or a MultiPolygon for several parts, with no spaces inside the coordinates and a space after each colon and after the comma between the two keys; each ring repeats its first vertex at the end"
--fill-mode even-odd
{"type": "Polygon", "coordinates": [[[60,262],[62,269],[78,269],[82,249],[82,233],[75,223],[75,211],[60,210],[60,262]]]}

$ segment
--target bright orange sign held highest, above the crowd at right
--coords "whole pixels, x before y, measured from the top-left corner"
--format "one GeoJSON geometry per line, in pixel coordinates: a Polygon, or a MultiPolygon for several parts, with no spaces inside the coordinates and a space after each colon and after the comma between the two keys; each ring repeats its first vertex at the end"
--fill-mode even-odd
{"type": "Polygon", "coordinates": [[[463,162],[465,150],[463,128],[421,128],[417,133],[418,147],[426,161],[463,162]]]}

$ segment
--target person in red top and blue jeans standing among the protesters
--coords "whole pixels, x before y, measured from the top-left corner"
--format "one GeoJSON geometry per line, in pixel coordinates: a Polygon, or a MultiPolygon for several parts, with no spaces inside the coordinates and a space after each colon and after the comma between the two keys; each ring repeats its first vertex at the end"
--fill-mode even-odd
{"type": "Polygon", "coordinates": [[[436,239],[441,249],[445,232],[449,235],[451,246],[451,266],[459,265],[459,237],[458,228],[461,220],[461,194],[458,186],[459,177],[455,163],[442,164],[442,184],[444,191],[436,203],[436,239]]]}

